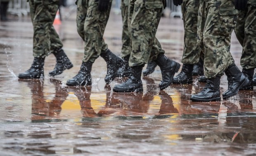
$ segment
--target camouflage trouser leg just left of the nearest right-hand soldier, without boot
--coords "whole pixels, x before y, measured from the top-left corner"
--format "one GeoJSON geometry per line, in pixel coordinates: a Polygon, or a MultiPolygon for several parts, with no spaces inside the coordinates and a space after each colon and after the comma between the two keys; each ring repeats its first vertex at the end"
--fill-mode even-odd
{"type": "Polygon", "coordinates": [[[181,4],[184,23],[184,50],[182,63],[196,64],[200,57],[200,48],[197,44],[197,16],[199,0],[184,0],[181,4]]]}

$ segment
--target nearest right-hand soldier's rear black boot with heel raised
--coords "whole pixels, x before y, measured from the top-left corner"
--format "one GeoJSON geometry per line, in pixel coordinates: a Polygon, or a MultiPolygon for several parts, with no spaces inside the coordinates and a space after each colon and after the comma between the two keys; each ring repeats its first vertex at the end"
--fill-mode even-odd
{"type": "Polygon", "coordinates": [[[241,87],[249,83],[249,79],[244,76],[235,64],[231,64],[225,74],[228,77],[228,90],[222,94],[224,100],[236,95],[241,87]]]}

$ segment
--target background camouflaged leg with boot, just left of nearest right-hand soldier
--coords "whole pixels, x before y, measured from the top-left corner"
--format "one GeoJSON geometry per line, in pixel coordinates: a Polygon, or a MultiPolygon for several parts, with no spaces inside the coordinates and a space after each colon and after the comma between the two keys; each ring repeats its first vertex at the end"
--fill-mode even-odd
{"type": "Polygon", "coordinates": [[[173,78],[173,83],[192,83],[192,71],[194,64],[199,62],[200,48],[197,44],[197,16],[199,0],[185,0],[182,5],[184,23],[184,50],[181,72],[173,78]]]}

